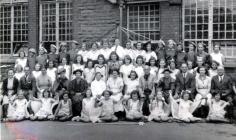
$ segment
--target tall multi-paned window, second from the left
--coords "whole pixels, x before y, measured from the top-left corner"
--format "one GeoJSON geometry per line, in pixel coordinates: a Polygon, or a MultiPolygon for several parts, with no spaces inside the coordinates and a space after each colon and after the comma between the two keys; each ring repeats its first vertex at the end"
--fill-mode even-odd
{"type": "Polygon", "coordinates": [[[46,44],[59,44],[72,40],[72,2],[70,0],[42,1],[41,37],[46,44]]]}

